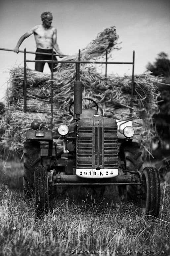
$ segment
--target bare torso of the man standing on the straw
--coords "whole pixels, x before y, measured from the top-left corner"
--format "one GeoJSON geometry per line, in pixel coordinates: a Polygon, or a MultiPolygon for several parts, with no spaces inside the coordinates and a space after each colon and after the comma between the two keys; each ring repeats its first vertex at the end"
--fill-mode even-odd
{"type": "Polygon", "coordinates": [[[55,28],[44,28],[43,25],[37,25],[34,27],[34,37],[37,48],[41,49],[53,49],[53,35],[55,28]]]}

